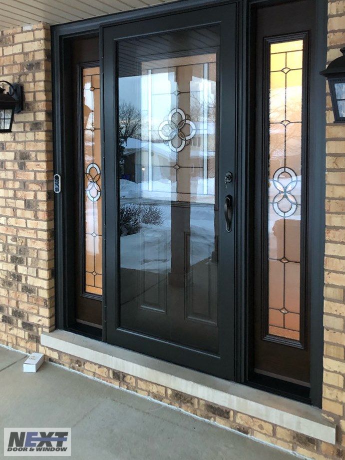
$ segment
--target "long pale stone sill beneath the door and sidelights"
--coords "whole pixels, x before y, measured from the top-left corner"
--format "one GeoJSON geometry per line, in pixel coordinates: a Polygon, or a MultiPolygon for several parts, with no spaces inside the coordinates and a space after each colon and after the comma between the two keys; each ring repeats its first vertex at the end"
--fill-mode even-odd
{"type": "Polygon", "coordinates": [[[41,334],[41,345],[140,379],[233,409],[327,443],[336,426],[318,408],[219,379],[120,347],[56,330],[41,334]]]}

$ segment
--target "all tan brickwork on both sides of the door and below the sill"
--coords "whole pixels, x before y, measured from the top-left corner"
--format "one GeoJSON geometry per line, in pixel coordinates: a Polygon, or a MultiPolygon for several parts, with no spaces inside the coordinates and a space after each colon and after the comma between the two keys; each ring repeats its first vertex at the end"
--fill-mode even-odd
{"type": "MultiPolygon", "coordinates": [[[[328,60],[345,46],[345,0],[329,1],[328,60]]],[[[0,35],[0,74],[24,85],[25,110],[0,134],[0,343],[39,351],[50,361],[150,396],[219,425],[313,459],[345,459],[345,125],[327,107],[325,257],[325,416],[338,427],[332,446],[229,408],[146,382],[39,345],[54,327],[49,29],[44,24],[0,35]]]]}

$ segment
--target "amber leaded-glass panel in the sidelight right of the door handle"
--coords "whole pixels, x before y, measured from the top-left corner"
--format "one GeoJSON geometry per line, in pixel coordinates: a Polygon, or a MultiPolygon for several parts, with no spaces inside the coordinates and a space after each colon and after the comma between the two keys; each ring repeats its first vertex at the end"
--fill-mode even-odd
{"type": "Polygon", "coordinates": [[[270,45],[269,334],[300,339],[303,40],[270,45]]]}

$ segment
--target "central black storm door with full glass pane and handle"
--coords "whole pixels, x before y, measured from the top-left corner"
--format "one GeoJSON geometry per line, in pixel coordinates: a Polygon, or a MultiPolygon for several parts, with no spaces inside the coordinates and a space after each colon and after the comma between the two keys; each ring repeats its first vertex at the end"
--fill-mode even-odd
{"type": "Polygon", "coordinates": [[[234,378],[236,6],[103,28],[107,341],[234,378]]]}

